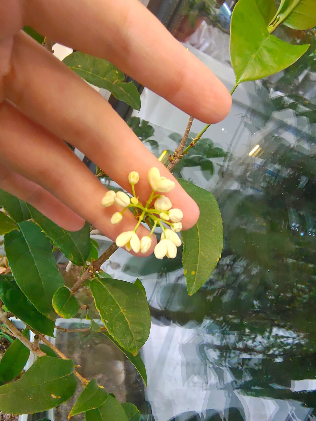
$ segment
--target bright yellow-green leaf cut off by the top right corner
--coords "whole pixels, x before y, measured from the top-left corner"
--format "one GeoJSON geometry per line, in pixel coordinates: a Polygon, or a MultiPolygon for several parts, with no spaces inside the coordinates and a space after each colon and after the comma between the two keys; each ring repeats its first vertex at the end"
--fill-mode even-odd
{"type": "Polygon", "coordinates": [[[273,32],[281,24],[300,30],[316,26],[315,0],[281,0],[279,9],[268,26],[269,32],[273,32]]]}

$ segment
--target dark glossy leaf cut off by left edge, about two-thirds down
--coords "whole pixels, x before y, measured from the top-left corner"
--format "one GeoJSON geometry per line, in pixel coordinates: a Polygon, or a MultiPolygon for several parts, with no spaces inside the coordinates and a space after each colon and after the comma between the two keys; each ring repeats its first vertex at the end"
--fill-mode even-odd
{"type": "Polygon", "coordinates": [[[37,332],[53,336],[55,323],[31,304],[11,275],[0,275],[0,298],[9,312],[37,332]]]}

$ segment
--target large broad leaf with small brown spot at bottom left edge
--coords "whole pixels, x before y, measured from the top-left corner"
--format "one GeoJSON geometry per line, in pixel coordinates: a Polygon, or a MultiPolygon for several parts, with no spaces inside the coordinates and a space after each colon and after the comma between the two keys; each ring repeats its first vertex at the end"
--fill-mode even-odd
{"type": "Polygon", "coordinates": [[[77,382],[71,360],[39,357],[23,376],[0,386],[4,413],[27,414],[55,408],[74,394],[77,382]]]}

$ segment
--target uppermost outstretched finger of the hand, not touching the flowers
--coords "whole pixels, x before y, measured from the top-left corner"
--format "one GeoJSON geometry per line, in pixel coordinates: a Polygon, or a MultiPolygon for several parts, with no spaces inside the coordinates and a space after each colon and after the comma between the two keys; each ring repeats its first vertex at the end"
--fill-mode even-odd
{"type": "Polygon", "coordinates": [[[231,97],[220,80],[187,51],[138,0],[28,0],[23,24],[107,59],[142,85],[205,123],[228,114],[231,97]]]}

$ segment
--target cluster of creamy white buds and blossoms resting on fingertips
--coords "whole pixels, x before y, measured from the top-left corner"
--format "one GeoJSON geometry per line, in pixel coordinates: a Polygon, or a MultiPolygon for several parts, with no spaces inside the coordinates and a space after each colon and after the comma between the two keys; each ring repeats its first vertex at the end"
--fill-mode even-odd
{"type": "Polygon", "coordinates": [[[139,202],[135,193],[135,184],[139,181],[139,173],[132,171],[129,173],[129,183],[132,187],[133,197],[124,192],[114,192],[109,190],[103,197],[101,203],[104,207],[112,206],[116,203],[123,208],[121,212],[115,212],[112,215],[111,223],[118,224],[123,219],[123,213],[126,209],[131,209],[138,219],[133,231],[125,231],[118,235],[115,242],[118,247],[126,247],[126,250],[133,250],[135,253],[139,251],[143,254],[147,253],[151,246],[151,236],[157,225],[161,226],[163,232],[161,239],[155,246],[155,256],[162,259],[164,256],[175,258],[177,256],[177,247],[181,245],[180,237],[176,234],[181,231],[181,219],[183,213],[180,209],[173,208],[171,200],[160,193],[168,193],[174,189],[174,181],[162,177],[158,168],[150,168],[148,171],[148,181],[153,189],[149,199],[145,205],[139,202]],[[152,204],[153,200],[155,202],[152,204]],[[145,237],[139,239],[136,230],[142,221],[146,221],[151,227],[151,231],[145,237]],[[166,228],[165,225],[169,226],[166,228]]]}

